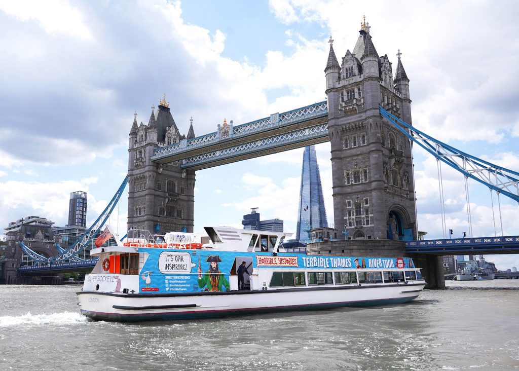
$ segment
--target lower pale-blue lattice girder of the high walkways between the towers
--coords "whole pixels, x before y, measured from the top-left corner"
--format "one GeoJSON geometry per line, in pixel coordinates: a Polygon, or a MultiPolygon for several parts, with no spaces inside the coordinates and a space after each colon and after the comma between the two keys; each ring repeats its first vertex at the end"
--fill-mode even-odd
{"type": "Polygon", "coordinates": [[[186,158],[182,161],[181,168],[190,168],[200,164],[215,162],[223,159],[242,156],[244,154],[260,152],[269,148],[285,146],[291,143],[305,142],[311,139],[329,136],[328,124],[305,128],[280,135],[270,136],[260,140],[239,144],[224,149],[218,149],[198,156],[186,158]]]}

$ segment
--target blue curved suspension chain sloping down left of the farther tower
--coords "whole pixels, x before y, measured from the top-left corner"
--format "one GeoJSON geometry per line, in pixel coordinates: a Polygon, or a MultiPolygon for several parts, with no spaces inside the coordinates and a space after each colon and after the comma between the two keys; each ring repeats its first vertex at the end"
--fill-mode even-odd
{"type": "Polygon", "coordinates": [[[101,228],[106,224],[106,221],[112,214],[112,212],[115,209],[115,206],[117,205],[117,202],[119,202],[119,198],[122,195],[122,191],[126,188],[126,185],[128,184],[128,176],[125,177],[124,181],[122,181],[121,185],[117,189],[114,197],[110,202],[108,202],[108,205],[103,210],[101,215],[95,220],[95,222],[88,228],[85,233],[83,233],[83,236],[81,236],[76,242],[74,242],[69,249],[59,253],[57,256],[47,258],[45,256],[42,256],[27,246],[25,246],[20,241],[20,246],[23,250],[23,252],[28,255],[32,260],[34,260],[36,263],[39,264],[46,264],[49,262],[70,262],[70,260],[76,260],[77,254],[83,249],[88,246],[90,241],[94,236],[97,236],[101,228]]]}

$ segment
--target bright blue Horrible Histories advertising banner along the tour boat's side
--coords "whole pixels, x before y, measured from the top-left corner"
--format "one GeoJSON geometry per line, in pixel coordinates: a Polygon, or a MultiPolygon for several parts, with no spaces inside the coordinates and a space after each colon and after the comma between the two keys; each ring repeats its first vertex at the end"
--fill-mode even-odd
{"type": "Polygon", "coordinates": [[[139,273],[141,293],[229,291],[231,274],[235,275],[243,262],[249,273],[252,273],[254,268],[311,270],[414,268],[409,258],[272,255],[272,253],[147,248],[141,248],[139,252],[148,253],[139,273]]]}

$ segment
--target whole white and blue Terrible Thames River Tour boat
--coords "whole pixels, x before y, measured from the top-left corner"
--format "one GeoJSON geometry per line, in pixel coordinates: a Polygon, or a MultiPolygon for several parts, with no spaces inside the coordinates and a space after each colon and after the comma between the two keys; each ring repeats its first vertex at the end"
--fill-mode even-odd
{"type": "Polygon", "coordinates": [[[288,253],[282,240],[291,233],[205,230],[205,244],[193,233],[139,231],[102,246],[113,235],[107,228],[90,253],[99,262],[77,293],[81,313],[131,322],[367,307],[406,303],[426,284],[411,258],[288,253]]]}

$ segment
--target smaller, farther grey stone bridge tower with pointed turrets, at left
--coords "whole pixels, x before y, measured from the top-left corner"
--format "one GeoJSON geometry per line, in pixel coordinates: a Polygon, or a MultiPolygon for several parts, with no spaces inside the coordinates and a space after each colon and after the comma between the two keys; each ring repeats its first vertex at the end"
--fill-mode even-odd
{"type": "Polygon", "coordinates": [[[166,95],[156,113],[152,106],[148,125],[138,125],[134,116],[128,149],[128,228],[193,232],[195,172],[182,170],[178,161],[151,160],[155,148],[194,138],[193,120],[187,137],[181,135],[166,95]]]}

